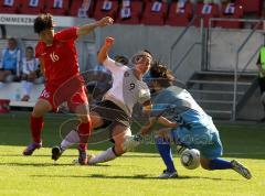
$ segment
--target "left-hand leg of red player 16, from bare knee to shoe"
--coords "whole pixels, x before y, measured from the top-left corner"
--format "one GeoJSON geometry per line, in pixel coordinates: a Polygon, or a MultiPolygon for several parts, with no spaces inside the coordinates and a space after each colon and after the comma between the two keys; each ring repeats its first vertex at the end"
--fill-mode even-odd
{"type": "Polygon", "coordinates": [[[39,99],[31,115],[31,138],[32,143],[23,151],[23,155],[31,155],[35,149],[42,146],[41,132],[44,126],[43,116],[52,110],[52,105],[45,99],[39,99]]]}

